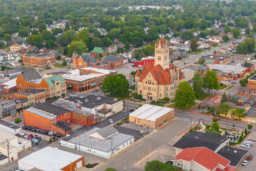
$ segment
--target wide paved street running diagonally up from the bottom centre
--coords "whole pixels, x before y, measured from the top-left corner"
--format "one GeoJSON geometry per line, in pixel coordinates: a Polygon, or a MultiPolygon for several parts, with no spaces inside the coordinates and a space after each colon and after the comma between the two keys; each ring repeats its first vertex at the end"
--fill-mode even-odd
{"type": "Polygon", "coordinates": [[[115,168],[118,171],[123,171],[124,168],[126,168],[127,171],[143,171],[144,168],[134,167],[134,163],[140,161],[140,159],[145,157],[150,151],[166,144],[172,137],[178,136],[180,133],[184,132],[189,126],[190,125],[183,121],[169,123],[169,125],[161,130],[139,140],[139,143],[132,145],[129,149],[121,152],[96,170],[104,171],[106,168],[115,168]]]}

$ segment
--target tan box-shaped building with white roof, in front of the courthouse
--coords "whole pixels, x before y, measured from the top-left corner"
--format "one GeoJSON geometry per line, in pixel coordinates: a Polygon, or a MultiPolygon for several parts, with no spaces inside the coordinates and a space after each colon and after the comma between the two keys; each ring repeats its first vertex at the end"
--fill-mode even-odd
{"type": "Polygon", "coordinates": [[[174,109],[144,104],[129,115],[129,122],[147,128],[158,129],[174,118],[174,109]]]}

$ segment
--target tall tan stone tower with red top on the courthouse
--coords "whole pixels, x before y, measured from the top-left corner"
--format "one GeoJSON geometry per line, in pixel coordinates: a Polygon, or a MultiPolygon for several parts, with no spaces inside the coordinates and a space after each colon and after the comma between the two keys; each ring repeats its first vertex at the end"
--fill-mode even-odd
{"type": "Polygon", "coordinates": [[[155,66],[158,64],[163,70],[169,68],[169,42],[163,38],[155,43],[155,66]]]}

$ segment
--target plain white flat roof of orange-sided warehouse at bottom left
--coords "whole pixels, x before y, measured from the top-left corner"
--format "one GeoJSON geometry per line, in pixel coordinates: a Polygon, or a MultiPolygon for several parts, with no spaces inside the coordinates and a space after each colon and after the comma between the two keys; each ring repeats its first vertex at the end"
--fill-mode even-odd
{"type": "Polygon", "coordinates": [[[59,150],[58,148],[46,147],[27,155],[20,159],[18,163],[25,163],[40,170],[59,171],[80,158],[82,158],[81,155],[59,150]]]}

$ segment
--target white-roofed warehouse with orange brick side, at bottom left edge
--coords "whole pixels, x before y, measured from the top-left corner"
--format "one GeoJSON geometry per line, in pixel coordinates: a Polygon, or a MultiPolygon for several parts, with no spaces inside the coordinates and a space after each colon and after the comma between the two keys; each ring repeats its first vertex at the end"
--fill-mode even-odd
{"type": "Polygon", "coordinates": [[[84,157],[58,148],[46,147],[18,161],[19,169],[43,171],[74,171],[84,166],[84,157]]]}

